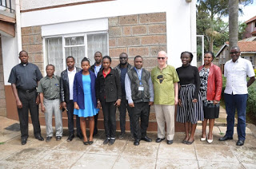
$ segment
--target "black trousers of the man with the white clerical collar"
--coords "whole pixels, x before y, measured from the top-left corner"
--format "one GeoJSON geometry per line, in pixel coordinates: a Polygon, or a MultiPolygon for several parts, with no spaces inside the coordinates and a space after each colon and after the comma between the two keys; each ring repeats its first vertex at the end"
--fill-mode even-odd
{"type": "Polygon", "coordinates": [[[22,138],[29,137],[29,110],[34,128],[34,136],[41,135],[41,128],[38,117],[38,105],[35,103],[38,92],[34,89],[33,92],[24,92],[18,90],[19,100],[22,102],[22,108],[18,108],[18,118],[22,133],[22,138]]]}

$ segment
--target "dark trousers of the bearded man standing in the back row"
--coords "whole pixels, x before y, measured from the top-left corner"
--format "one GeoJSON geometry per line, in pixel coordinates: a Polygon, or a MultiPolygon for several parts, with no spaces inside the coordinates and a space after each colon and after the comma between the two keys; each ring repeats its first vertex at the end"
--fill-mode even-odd
{"type": "Polygon", "coordinates": [[[126,96],[122,97],[121,104],[118,107],[119,113],[120,113],[120,128],[121,133],[126,132],[126,109],[128,110],[129,117],[130,117],[130,134],[131,136],[134,136],[134,128],[132,126],[132,118],[130,116],[130,106],[128,105],[128,101],[126,100],[126,96]]]}

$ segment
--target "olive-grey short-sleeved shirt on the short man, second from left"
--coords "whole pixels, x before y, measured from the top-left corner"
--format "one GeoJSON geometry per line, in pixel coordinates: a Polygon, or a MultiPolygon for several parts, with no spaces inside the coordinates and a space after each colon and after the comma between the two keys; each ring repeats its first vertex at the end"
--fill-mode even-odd
{"type": "Polygon", "coordinates": [[[60,77],[53,76],[52,78],[43,77],[38,84],[38,92],[42,92],[46,99],[59,99],[60,98],[60,77]]]}

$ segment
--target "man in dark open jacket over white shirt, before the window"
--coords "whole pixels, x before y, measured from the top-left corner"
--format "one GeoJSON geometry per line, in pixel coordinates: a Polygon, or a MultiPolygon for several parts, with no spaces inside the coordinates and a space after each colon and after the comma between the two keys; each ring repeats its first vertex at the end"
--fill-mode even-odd
{"type": "MultiPolygon", "coordinates": [[[[66,109],[68,116],[68,128],[70,135],[67,138],[67,142],[70,142],[74,138],[74,102],[73,102],[73,85],[74,75],[81,69],[74,66],[74,57],[66,57],[67,69],[61,73],[61,100],[62,108],[66,109]]],[[[77,136],[82,140],[82,132],[80,128],[80,119],[76,116],[77,136]]]]}

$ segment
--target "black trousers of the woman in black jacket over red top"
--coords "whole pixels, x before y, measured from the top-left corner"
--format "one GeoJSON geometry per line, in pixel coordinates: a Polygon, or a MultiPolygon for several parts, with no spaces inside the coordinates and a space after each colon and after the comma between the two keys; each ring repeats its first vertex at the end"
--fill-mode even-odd
{"type": "Polygon", "coordinates": [[[102,104],[102,111],[104,116],[104,128],[106,133],[106,138],[115,138],[117,126],[116,126],[116,106],[115,101],[113,102],[106,102],[101,101],[102,104]]]}

